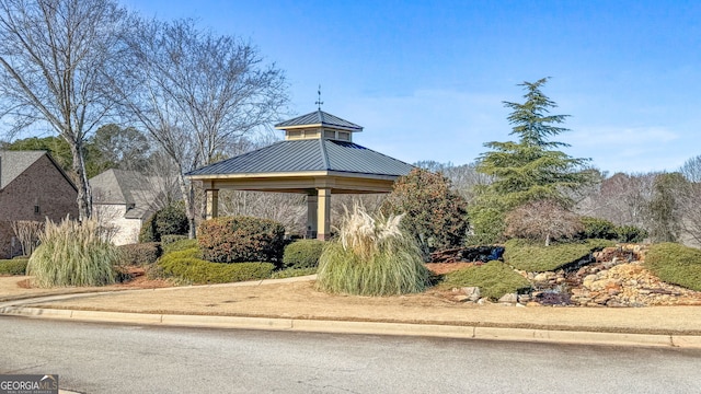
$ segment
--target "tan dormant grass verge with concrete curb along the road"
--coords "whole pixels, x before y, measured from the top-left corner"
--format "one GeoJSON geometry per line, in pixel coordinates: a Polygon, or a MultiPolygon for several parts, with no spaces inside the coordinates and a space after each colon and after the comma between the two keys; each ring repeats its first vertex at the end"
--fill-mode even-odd
{"type": "MultiPolygon", "coordinates": [[[[430,294],[330,296],[313,278],[51,294],[0,302],[0,314],[83,322],[434,336],[701,349],[701,306],[517,308],[440,303],[430,294]]],[[[0,294],[1,296],[1,294],[0,294]]]]}

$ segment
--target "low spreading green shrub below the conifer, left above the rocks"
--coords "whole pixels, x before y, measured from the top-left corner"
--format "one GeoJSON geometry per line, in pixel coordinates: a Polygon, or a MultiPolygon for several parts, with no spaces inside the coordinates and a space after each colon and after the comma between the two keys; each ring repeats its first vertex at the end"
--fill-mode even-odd
{"type": "Polygon", "coordinates": [[[525,240],[509,240],[505,244],[504,262],[516,269],[529,273],[552,271],[582,258],[587,258],[594,251],[613,245],[613,242],[606,240],[559,243],[550,246],[533,244],[525,240]]]}

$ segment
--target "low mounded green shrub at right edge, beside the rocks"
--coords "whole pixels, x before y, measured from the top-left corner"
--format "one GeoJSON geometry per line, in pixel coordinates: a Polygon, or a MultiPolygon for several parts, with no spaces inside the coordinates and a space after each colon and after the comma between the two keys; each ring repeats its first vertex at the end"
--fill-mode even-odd
{"type": "Polygon", "coordinates": [[[663,281],[701,291],[701,251],[677,243],[651,245],[645,267],[663,281]]]}

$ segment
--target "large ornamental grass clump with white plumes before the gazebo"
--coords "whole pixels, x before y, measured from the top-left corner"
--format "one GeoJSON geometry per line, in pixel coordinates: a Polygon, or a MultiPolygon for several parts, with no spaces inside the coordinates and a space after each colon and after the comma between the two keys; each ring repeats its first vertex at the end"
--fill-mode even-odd
{"type": "Polygon", "coordinates": [[[333,293],[392,296],[422,292],[428,283],[416,241],[400,230],[402,216],[372,218],[346,210],[338,239],[319,258],[317,287],[333,293]]]}

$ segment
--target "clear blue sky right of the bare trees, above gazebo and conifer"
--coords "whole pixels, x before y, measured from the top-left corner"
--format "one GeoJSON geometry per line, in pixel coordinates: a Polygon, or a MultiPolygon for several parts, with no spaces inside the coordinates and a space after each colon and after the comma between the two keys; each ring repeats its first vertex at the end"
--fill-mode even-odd
{"type": "Polygon", "coordinates": [[[572,115],[558,140],[609,173],[701,154],[701,1],[124,0],[249,39],[286,71],[290,109],[365,127],[405,162],[464,164],[508,136],[522,81],[572,115]]]}

